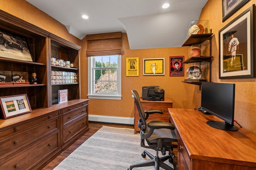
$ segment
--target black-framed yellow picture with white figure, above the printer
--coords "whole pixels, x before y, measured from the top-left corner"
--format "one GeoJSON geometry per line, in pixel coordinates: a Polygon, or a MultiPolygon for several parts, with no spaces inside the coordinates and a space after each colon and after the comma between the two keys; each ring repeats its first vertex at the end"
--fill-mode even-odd
{"type": "Polygon", "coordinates": [[[164,75],[164,58],[143,59],[143,75],[164,75]]]}

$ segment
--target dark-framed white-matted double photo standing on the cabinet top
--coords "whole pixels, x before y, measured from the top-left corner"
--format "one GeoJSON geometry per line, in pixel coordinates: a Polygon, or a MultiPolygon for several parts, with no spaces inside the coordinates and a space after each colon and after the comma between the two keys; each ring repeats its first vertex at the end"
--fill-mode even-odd
{"type": "Polygon", "coordinates": [[[27,94],[0,97],[0,105],[3,119],[32,111],[27,94]]]}

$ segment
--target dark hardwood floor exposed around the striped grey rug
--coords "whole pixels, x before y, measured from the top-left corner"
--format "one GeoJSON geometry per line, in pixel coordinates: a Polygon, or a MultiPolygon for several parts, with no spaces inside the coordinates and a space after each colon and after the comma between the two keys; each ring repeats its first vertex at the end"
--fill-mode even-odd
{"type": "MultiPolygon", "coordinates": [[[[47,164],[42,170],[53,170],[62,160],[68,157],[74,150],[76,150],[82,143],[84,143],[87,139],[89,139],[94,133],[96,133],[102,126],[111,126],[111,127],[120,127],[120,128],[130,128],[134,129],[133,125],[120,125],[120,124],[112,124],[112,123],[99,123],[99,122],[89,122],[89,131],[84,134],[80,139],[78,139],[75,143],[70,145],[68,149],[64,150],[59,154],[52,162],[47,164]]],[[[177,151],[174,149],[174,154],[177,156],[177,151]]],[[[176,158],[174,159],[174,168],[176,169],[176,158]]]]}

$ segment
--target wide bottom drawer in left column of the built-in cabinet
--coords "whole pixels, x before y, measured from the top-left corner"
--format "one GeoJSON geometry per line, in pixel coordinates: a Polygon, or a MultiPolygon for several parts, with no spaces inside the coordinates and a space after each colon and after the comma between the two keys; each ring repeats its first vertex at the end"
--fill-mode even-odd
{"type": "Polygon", "coordinates": [[[58,131],[53,135],[48,135],[42,140],[37,141],[32,146],[24,148],[6,160],[0,160],[1,169],[34,169],[33,166],[38,164],[39,160],[59,149],[57,132],[58,131]]]}

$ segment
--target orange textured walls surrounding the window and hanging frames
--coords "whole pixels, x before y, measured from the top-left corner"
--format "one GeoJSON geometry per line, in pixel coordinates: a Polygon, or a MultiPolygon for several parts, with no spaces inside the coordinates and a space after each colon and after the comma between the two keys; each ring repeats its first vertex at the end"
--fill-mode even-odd
{"type": "MultiPolygon", "coordinates": [[[[233,14],[228,20],[222,23],[222,1],[208,0],[203,8],[200,20],[209,20],[209,27],[214,34],[212,39],[212,81],[227,82],[236,84],[236,106],[235,119],[245,128],[256,134],[256,79],[222,79],[218,78],[218,31],[228,24],[232,19],[241,14],[244,10],[255,4],[256,0],[250,0],[245,6],[233,14]]],[[[28,21],[38,27],[45,29],[55,35],[58,35],[72,43],[82,46],[81,56],[81,96],[87,98],[88,88],[88,59],[86,53],[86,37],[82,41],[68,33],[66,27],[60,22],[54,20],[38,8],[32,6],[25,0],[6,0],[0,3],[0,9],[4,10],[22,20],[28,21]]],[[[196,20],[196,19],[195,19],[196,20]]],[[[255,30],[254,30],[255,31],[255,30]]],[[[170,37],[171,38],[171,37],[170,37]]],[[[190,108],[200,106],[201,91],[199,86],[186,84],[182,81],[185,76],[170,77],[169,57],[184,55],[188,58],[188,47],[179,48],[160,48],[160,49],[139,49],[130,50],[126,33],[123,33],[124,55],[122,56],[122,100],[90,100],[89,113],[92,115],[108,115],[120,117],[133,117],[133,99],[131,90],[135,89],[141,95],[142,86],[158,85],[165,90],[165,97],[171,98],[173,107],[190,108]],[[139,76],[126,77],[125,59],[127,57],[139,57],[139,76]],[[164,76],[143,76],[143,59],[164,58],[165,75],[164,76]]],[[[188,66],[185,64],[185,71],[188,66]]],[[[186,74],[186,73],[185,73],[186,74]]]]}

